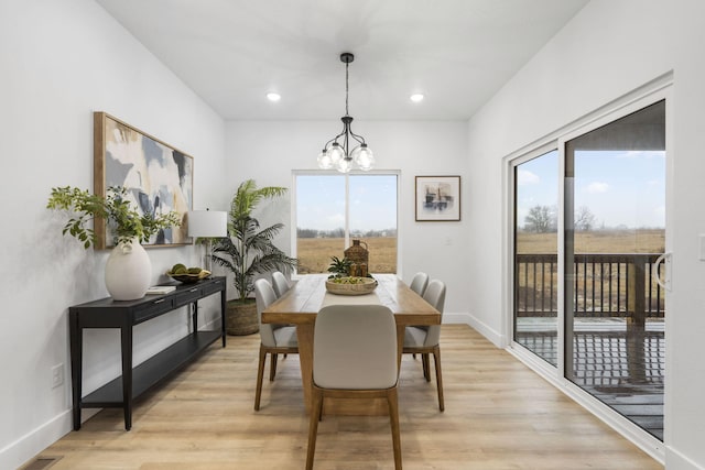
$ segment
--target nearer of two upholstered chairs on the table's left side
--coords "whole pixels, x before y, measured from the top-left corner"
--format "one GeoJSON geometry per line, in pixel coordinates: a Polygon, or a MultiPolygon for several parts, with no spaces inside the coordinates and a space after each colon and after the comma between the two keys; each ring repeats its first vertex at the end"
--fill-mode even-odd
{"type": "Polygon", "coordinates": [[[269,380],[273,381],[276,375],[276,356],[279,353],[299,353],[299,342],[296,327],[262,323],[262,311],[276,300],[276,294],[274,294],[274,288],[269,281],[263,278],[254,281],[254,299],[260,321],[260,361],[257,369],[257,390],[254,392],[254,411],[259,411],[267,354],[270,354],[269,380]]]}

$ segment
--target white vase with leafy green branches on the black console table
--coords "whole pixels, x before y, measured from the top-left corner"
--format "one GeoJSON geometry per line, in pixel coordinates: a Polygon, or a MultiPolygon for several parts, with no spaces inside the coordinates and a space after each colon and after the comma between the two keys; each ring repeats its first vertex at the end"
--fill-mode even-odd
{"type": "Polygon", "coordinates": [[[64,226],[63,233],[80,241],[87,250],[98,237],[86,225],[96,217],[106,220],[115,234],[115,249],[106,262],[106,287],[116,300],[141,298],[151,283],[152,264],[141,245],[159,230],[178,227],[176,212],[140,215],[128,198],[124,187],[110,187],[106,196],[70,186],[52,188],[46,207],[65,210],[73,216],[64,226]]]}

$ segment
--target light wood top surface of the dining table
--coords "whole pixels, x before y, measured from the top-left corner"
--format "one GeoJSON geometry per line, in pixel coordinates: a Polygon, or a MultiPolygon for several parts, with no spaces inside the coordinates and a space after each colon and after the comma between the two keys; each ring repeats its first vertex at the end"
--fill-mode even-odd
{"type": "MultiPolygon", "coordinates": [[[[413,292],[395,274],[372,274],[378,286],[376,296],[370,296],[370,303],[381,303],[394,314],[397,325],[438,325],[441,314],[413,292]]],[[[314,324],[318,310],[326,304],[339,299],[341,304],[349,303],[348,296],[329,294],[325,282],[328,274],[307,274],[301,276],[292,287],[276,302],[262,311],[262,323],[267,324],[314,324]],[[335,296],[335,298],[330,297],[335,296]]],[[[357,296],[356,296],[357,297],[357,296]]],[[[356,302],[365,300],[359,296],[356,302]]]]}

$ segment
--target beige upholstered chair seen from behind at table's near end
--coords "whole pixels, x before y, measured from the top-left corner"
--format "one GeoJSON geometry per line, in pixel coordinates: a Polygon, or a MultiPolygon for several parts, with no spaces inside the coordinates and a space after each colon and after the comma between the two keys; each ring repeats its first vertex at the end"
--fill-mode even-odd
{"type": "Polygon", "coordinates": [[[313,468],[318,420],[326,397],[387,398],[394,468],[401,469],[397,398],[397,325],[383,305],[329,305],[316,317],[306,469],[313,468]]]}

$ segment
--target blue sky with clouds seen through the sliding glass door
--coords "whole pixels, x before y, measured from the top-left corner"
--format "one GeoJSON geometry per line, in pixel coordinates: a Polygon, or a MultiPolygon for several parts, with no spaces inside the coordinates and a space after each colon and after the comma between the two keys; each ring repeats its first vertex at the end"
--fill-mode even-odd
{"type": "MultiPolygon", "coordinates": [[[[518,221],[529,209],[558,204],[558,152],[518,167],[518,221]]],[[[575,208],[587,207],[596,227],[665,227],[665,152],[577,151],[575,208]]]]}

